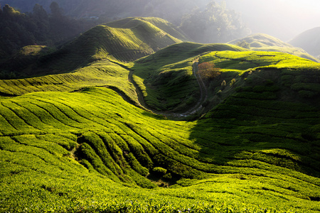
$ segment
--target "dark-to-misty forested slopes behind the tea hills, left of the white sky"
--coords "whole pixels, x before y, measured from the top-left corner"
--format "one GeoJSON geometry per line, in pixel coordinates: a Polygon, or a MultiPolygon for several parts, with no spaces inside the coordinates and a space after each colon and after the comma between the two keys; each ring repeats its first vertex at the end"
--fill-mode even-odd
{"type": "MultiPolygon", "coordinates": [[[[23,45],[52,45],[78,35],[94,24],[128,16],[154,16],[174,23],[197,43],[225,43],[250,34],[239,13],[214,0],[33,0],[11,1],[20,13],[6,5],[1,11],[1,46],[10,53],[23,45]],[[56,1],[56,2],[55,2],[56,1]],[[58,3],[57,3],[58,2],[58,3]],[[50,4],[50,5],[49,5],[50,4]],[[60,5],[60,7],[58,6],[60,5]],[[51,13],[48,13],[48,12],[51,13]],[[97,20],[89,21],[90,16],[97,20]],[[73,18],[70,18],[73,17],[73,18]],[[88,18],[89,17],[89,18],[88,18]]],[[[2,1],[6,2],[6,1],[2,1]]],[[[1,53],[0,53],[1,54],[1,53]]]]}

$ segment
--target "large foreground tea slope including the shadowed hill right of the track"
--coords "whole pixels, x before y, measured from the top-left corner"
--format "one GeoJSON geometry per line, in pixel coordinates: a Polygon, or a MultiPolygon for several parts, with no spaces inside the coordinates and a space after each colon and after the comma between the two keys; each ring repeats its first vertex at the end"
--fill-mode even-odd
{"type": "MultiPolygon", "coordinates": [[[[220,47],[180,52],[188,45],[181,58],[154,58],[174,66],[220,47]]],[[[165,120],[107,88],[0,99],[1,211],[319,212],[319,64],[234,51],[203,61],[222,68],[210,82],[221,104],[193,122],[165,120]]]]}

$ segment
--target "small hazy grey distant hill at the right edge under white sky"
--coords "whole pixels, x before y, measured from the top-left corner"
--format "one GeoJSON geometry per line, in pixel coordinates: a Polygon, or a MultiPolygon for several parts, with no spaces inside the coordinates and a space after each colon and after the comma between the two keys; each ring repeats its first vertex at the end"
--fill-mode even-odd
{"type": "Polygon", "coordinates": [[[291,45],[306,50],[309,54],[317,57],[320,55],[320,27],[312,28],[297,35],[289,41],[291,45]]]}

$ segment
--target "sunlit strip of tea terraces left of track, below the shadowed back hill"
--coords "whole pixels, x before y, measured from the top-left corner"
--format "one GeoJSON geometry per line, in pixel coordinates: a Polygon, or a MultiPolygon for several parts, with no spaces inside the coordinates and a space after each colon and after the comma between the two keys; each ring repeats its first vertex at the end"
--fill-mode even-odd
{"type": "Polygon", "coordinates": [[[75,92],[85,87],[103,86],[118,88],[119,92],[137,104],[135,88],[128,81],[129,70],[118,63],[102,60],[73,73],[21,80],[0,80],[0,94],[4,97],[14,97],[31,92],[75,92]]]}

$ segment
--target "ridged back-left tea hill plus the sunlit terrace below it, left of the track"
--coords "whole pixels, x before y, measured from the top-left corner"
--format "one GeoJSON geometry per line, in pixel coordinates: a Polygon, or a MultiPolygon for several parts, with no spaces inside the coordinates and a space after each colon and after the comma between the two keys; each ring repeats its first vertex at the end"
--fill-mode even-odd
{"type": "Polygon", "coordinates": [[[39,46],[24,48],[5,63],[9,67],[4,67],[17,75],[41,77],[0,80],[0,94],[16,96],[108,86],[120,89],[137,103],[133,84],[128,81],[129,70],[125,68],[132,65],[124,61],[149,55],[159,48],[181,42],[178,38],[185,38],[161,18],[127,18],[110,23],[110,26],[92,28],[59,50],[48,51],[39,46]]]}

